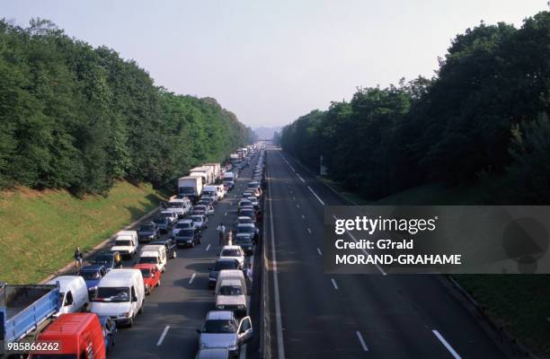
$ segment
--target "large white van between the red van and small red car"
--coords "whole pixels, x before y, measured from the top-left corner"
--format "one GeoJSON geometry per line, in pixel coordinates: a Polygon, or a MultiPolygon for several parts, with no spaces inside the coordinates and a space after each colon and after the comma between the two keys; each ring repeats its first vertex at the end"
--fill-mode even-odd
{"type": "Polygon", "coordinates": [[[145,285],[139,269],[111,269],[97,286],[90,311],[131,327],[143,311],[144,301],[145,285]]]}

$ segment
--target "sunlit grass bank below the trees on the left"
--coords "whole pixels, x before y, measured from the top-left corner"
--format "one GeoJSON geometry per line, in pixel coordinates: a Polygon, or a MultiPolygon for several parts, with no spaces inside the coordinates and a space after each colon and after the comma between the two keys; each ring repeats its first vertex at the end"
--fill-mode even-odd
{"type": "Polygon", "coordinates": [[[107,197],[17,188],[0,193],[0,280],[38,283],[158,206],[150,185],[118,182],[107,197]]]}

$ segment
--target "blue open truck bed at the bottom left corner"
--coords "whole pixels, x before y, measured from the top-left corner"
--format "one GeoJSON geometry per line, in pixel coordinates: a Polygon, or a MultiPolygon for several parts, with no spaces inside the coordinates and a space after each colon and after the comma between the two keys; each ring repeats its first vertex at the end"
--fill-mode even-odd
{"type": "Polygon", "coordinates": [[[13,342],[59,311],[59,285],[0,283],[0,341],[13,342]]]}

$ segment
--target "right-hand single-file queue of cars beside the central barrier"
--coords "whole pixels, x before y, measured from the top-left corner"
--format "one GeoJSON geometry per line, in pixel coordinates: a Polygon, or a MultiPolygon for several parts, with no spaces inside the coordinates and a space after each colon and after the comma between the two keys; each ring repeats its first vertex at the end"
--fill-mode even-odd
{"type": "MultiPolygon", "coordinates": [[[[252,156],[251,156],[252,157],[252,156]]],[[[244,164],[247,166],[250,158],[244,164]]],[[[199,333],[197,359],[237,357],[241,345],[253,336],[252,320],[247,316],[250,294],[244,276],[245,256],[253,255],[259,243],[260,231],[256,224],[262,212],[263,153],[253,171],[253,179],[237,205],[235,236],[218,254],[210,268],[208,287],[215,288],[215,310],[208,311],[199,333]]],[[[232,185],[229,185],[231,188],[232,185]]]]}

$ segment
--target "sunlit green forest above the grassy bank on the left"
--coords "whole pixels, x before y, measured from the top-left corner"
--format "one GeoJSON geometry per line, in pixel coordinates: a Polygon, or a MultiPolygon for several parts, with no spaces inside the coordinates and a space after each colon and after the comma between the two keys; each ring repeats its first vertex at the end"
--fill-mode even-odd
{"type": "Polygon", "coordinates": [[[134,61],[52,22],[0,21],[0,188],[106,193],[221,161],[252,130],[216,100],[168,92],[134,61]]]}

